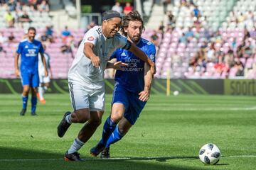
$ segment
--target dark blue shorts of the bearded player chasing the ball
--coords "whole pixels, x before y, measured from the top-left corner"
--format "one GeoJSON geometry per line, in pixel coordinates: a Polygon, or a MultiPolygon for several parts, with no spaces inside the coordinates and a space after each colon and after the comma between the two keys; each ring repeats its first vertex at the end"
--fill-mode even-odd
{"type": "Polygon", "coordinates": [[[134,94],[127,91],[124,87],[115,84],[112,98],[112,104],[113,103],[122,103],[124,105],[124,118],[134,125],[137,118],[139,118],[139,114],[142,112],[146,101],[139,100],[139,93],[134,94]]]}

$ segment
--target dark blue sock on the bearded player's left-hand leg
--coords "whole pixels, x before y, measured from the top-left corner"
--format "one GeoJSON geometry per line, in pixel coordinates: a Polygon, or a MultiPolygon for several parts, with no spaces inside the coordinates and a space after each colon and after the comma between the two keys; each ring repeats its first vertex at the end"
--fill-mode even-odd
{"type": "Polygon", "coordinates": [[[108,138],[116,128],[117,124],[114,123],[110,117],[104,123],[103,130],[102,130],[102,140],[100,140],[100,144],[106,145],[108,138]]]}

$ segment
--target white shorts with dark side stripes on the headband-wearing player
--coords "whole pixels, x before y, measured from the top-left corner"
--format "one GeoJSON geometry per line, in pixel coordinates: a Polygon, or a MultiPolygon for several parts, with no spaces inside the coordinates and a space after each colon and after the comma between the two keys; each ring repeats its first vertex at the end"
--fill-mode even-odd
{"type": "Polygon", "coordinates": [[[105,110],[105,86],[102,89],[89,89],[85,84],[68,81],[70,101],[74,111],[89,108],[90,111],[105,110]]]}

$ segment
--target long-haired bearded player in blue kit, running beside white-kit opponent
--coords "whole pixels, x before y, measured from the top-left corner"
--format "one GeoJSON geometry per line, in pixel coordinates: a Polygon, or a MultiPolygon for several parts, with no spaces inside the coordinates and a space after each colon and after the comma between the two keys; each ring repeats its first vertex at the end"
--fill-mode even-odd
{"type": "MultiPolygon", "coordinates": [[[[141,38],[143,30],[144,23],[137,11],[124,16],[122,33],[155,62],[156,48],[152,42],[141,38]]],[[[105,159],[110,158],[110,145],[121,140],[139,118],[149,99],[153,77],[147,64],[132,52],[119,48],[113,53],[111,59],[127,63],[128,67],[125,67],[124,71],[117,70],[115,74],[112,111],[105,121],[102,139],[90,149],[92,156],[97,157],[101,153],[100,157],[105,159]]]]}

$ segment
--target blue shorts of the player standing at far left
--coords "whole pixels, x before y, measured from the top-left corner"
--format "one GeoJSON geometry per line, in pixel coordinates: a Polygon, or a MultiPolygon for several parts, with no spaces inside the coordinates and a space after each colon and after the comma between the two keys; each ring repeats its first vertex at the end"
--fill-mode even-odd
{"type": "Polygon", "coordinates": [[[28,85],[31,87],[38,87],[39,86],[39,76],[37,73],[31,72],[21,72],[21,82],[22,85],[28,85]]]}

